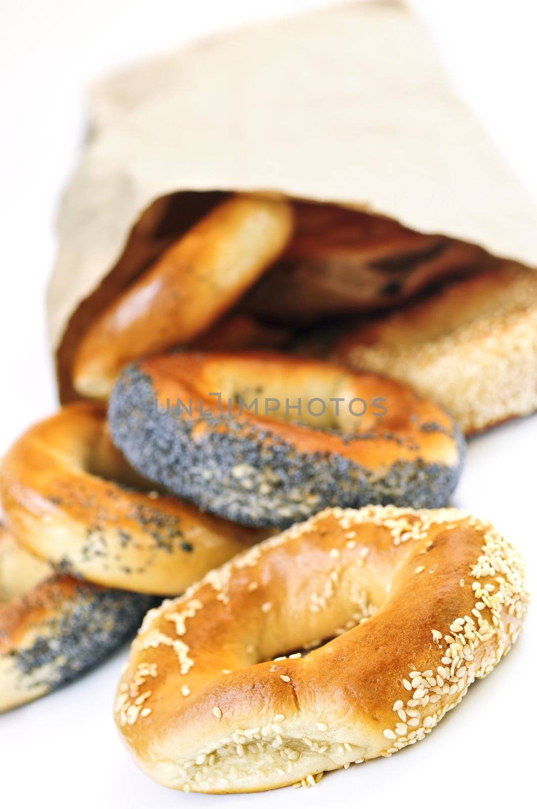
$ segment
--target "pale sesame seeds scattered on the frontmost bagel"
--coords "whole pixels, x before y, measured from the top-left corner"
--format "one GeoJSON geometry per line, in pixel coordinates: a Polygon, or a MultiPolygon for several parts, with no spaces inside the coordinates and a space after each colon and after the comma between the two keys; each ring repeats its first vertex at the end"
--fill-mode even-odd
{"type": "MultiPolygon", "coordinates": [[[[442,622],[444,631],[446,631],[447,626],[450,626],[450,630],[448,630],[450,634],[446,634],[445,636],[446,644],[444,644],[442,633],[438,629],[430,629],[429,631],[432,633],[433,641],[436,646],[433,647],[433,650],[429,649],[431,656],[427,659],[428,662],[425,663],[421,657],[416,657],[414,664],[408,663],[407,667],[404,667],[404,670],[400,672],[400,676],[403,676],[406,671],[409,671],[406,675],[408,679],[399,681],[402,682],[403,687],[407,691],[411,692],[407,694],[407,697],[411,698],[406,701],[397,700],[393,704],[393,711],[396,714],[395,727],[391,731],[390,728],[387,728],[389,732],[386,735],[387,739],[393,739],[393,741],[391,745],[387,743],[385,745],[387,749],[381,752],[381,755],[389,757],[393,752],[397,752],[399,749],[425,738],[425,735],[429,733],[439,719],[443,717],[446,710],[460,701],[463,694],[466,693],[468,685],[471,684],[476,677],[484,676],[488,674],[489,671],[492,671],[499,659],[505,654],[505,651],[508,650],[509,646],[514,642],[519,632],[520,619],[523,617],[526,600],[523,591],[522,572],[520,572],[521,568],[518,567],[518,562],[513,561],[514,552],[509,549],[506,543],[504,544],[504,540],[497,535],[496,532],[493,532],[493,529],[484,526],[484,524],[474,518],[469,518],[464,515],[461,516],[461,513],[457,510],[439,510],[438,513],[431,512],[433,516],[430,516],[429,513],[423,516],[422,512],[396,509],[394,506],[368,506],[366,509],[358,512],[340,509],[328,510],[325,514],[337,514],[337,520],[340,522],[344,532],[349,527],[355,527],[358,523],[367,521],[370,521],[374,525],[383,525],[388,522],[389,518],[393,527],[389,527],[388,530],[391,531],[393,544],[395,545],[408,540],[420,540],[421,547],[424,547],[425,542],[423,540],[427,539],[427,532],[431,525],[443,523],[450,529],[456,527],[461,520],[466,521],[467,525],[475,528],[482,534],[480,542],[478,543],[480,550],[477,550],[476,557],[469,566],[471,572],[467,574],[470,578],[467,582],[467,590],[465,591],[466,595],[473,594],[474,599],[472,600],[476,600],[477,603],[474,604],[472,608],[472,604],[468,604],[465,599],[462,599],[464,594],[460,594],[459,612],[460,614],[463,612],[470,614],[464,615],[464,617],[456,617],[457,612],[455,612],[451,616],[451,621],[446,621],[445,627],[442,622]],[[358,515],[358,517],[355,515],[358,515]],[[473,579],[476,579],[476,581],[473,581],[473,579]],[[494,582],[493,584],[488,583],[491,580],[494,582]],[[489,612],[483,612],[485,608],[487,608],[489,612]],[[438,654],[436,654],[436,650],[438,650],[438,654]],[[420,672],[416,668],[417,663],[420,663],[422,667],[423,665],[430,665],[431,668],[420,672]],[[440,663],[442,663],[442,666],[439,665],[440,663]],[[423,709],[425,705],[429,703],[429,710],[432,711],[432,715],[425,716],[423,709]],[[433,705],[434,708],[432,707],[433,705]],[[416,710],[413,710],[414,707],[416,707],[416,710]],[[434,711],[436,711],[436,713],[434,713],[434,711]],[[393,735],[390,735],[390,732],[393,735]]],[[[322,519],[327,519],[327,516],[322,519]]],[[[319,518],[315,518],[309,525],[316,525],[318,522],[319,518]]],[[[300,529],[295,527],[287,533],[287,540],[293,539],[295,536],[302,536],[305,531],[306,529],[303,527],[300,529]]],[[[348,539],[352,540],[353,538],[348,537],[348,539]]],[[[277,538],[276,544],[281,544],[281,541],[281,538],[277,538]]],[[[270,543],[273,543],[273,540],[270,540],[270,543]]],[[[273,547],[273,544],[270,543],[267,547],[273,547]]],[[[428,544],[431,543],[429,542],[428,544]]],[[[248,552],[249,555],[247,558],[251,561],[248,561],[247,565],[252,564],[252,560],[257,561],[262,553],[264,553],[264,550],[260,551],[259,549],[248,552]]],[[[240,564],[243,566],[243,561],[241,561],[240,564]]],[[[226,568],[226,570],[233,570],[235,565],[235,562],[230,563],[229,568],[226,568]]],[[[435,566],[436,565],[433,565],[433,567],[435,566]]],[[[425,566],[423,569],[425,570],[425,566]]],[[[433,568],[431,568],[431,570],[433,570],[433,568]]],[[[218,572],[218,576],[213,574],[210,579],[210,583],[214,586],[214,589],[218,591],[216,598],[220,600],[219,596],[222,596],[221,600],[224,601],[228,598],[228,579],[226,577],[227,574],[222,575],[221,572],[218,572]],[[218,580],[225,582],[225,584],[220,583],[217,587],[214,582],[218,582],[218,580]]],[[[459,581],[460,587],[464,587],[464,579],[455,579],[455,589],[457,581],[459,581]]],[[[339,565],[332,565],[332,570],[325,573],[325,582],[327,582],[328,586],[324,588],[321,587],[319,593],[315,594],[311,599],[312,604],[315,604],[315,607],[318,608],[318,612],[327,608],[328,599],[332,598],[336,593],[336,587],[339,586],[338,582],[340,582],[339,565]]],[[[454,603],[456,604],[456,592],[451,595],[454,596],[454,603]]],[[[261,598],[259,601],[261,601],[261,598]]],[[[188,602],[183,603],[188,604],[188,602]]],[[[229,603],[229,599],[226,603],[229,603]]],[[[171,608],[170,604],[171,603],[168,602],[165,609],[172,615],[174,613],[169,612],[171,608]]],[[[366,620],[371,614],[369,607],[368,611],[364,611],[362,606],[360,606],[359,609],[355,609],[357,609],[357,614],[353,614],[353,620],[342,626],[341,633],[349,629],[352,630],[354,626],[359,625],[362,620],[366,620]]],[[[156,615],[157,613],[154,614],[156,615]]],[[[166,612],[161,614],[167,615],[166,612]]],[[[184,612],[175,613],[175,618],[173,619],[178,627],[178,634],[180,634],[179,630],[183,629],[184,622],[181,621],[178,616],[184,616],[184,612]]],[[[338,631],[338,634],[339,633],[338,631]]],[[[147,633],[144,637],[147,637],[147,633]]],[[[165,636],[161,632],[160,637],[157,633],[153,633],[151,641],[142,648],[155,648],[159,645],[172,646],[173,650],[177,652],[180,663],[186,663],[185,659],[187,658],[188,647],[184,644],[182,646],[175,646],[174,644],[175,638],[165,636]],[[153,637],[155,638],[154,641],[153,637]]],[[[320,642],[314,644],[314,646],[319,645],[320,642]]],[[[252,652],[255,652],[253,645],[250,645],[250,648],[252,652]]],[[[290,655],[290,657],[298,657],[298,654],[290,655]]],[[[193,663],[190,663],[189,667],[192,665],[193,663]]],[[[278,663],[270,667],[271,671],[281,671],[281,668],[278,663]]],[[[186,671],[182,673],[186,673],[186,671]]],[[[154,675],[147,674],[146,676],[156,676],[156,672],[154,675]]],[[[286,676],[281,676],[281,679],[284,681],[291,680],[290,677],[286,676]]],[[[122,712],[121,724],[123,725],[128,722],[135,722],[138,715],[143,715],[142,711],[144,710],[142,707],[143,701],[140,699],[140,692],[143,692],[143,682],[137,679],[137,675],[134,675],[130,682],[130,688],[121,689],[121,693],[125,696],[125,701],[119,705],[118,710],[122,712]],[[138,705],[131,705],[131,701],[135,701],[139,704],[139,707],[138,705]],[[125,714],[125,718],[123,714],[125,714]]],[[[203,769],[194,776],[197,785],[199,785],[194,786],[194,788],[205,790],[205,788],[209,789],[210,785],[221,786],[222,782],[226,783],[226,779],[222,777],[222,771],[218,771],[218,765],[220,764],[219,757],[222,756],[223,758],[227,756],[228,753],[232,756],[247,756],[245,762],[249,762],[253,760],[252,756],[259,756],[260,753],[261,756],[259,756],[259,760],[261,760],[261,757],[266,756],[268,752],[270,756],[281,756],[281,759],[283,759],[282,768],[274,768],[274,771],[280,773],[282,776],[285,776],[285,773],[292,772],[293,762],[298,760],[300,753],[291,748],[284,748],[284,744],[290,743],[290,741],[283,741],[281,735],[278,733],[281,727],[277,722],[282,721],[282,716],[283,714],[277,714],[273,719],[265,718],[264,721],[268,723],[262,729],[251,728],[249,730],[235,731],[236,739],[234,736],[233,744],[230,743],[230,739],[222,740],[222,747],[217,748],[213,754],[209,755],[209,753],[207,753],[209,758],[208,760],[205,759],[204,765],[201,765],[203,769]],[[235,753],[236,745],[239,745],[240,748],[237,748],[237,752],[235,753]],[[259,753],[257,751],[259,751],[259,753]],[[217,769],[214,773],[213,771],[209,773],[209,768],[213,767],[215,763],[217,769]]],[[[227,718],[228,716],[226,714],[226,720],[227,718]]],[[[328,725],[326,725],[325,722],[319,722],[318,729],[320,730],[321,727],[328,730],[328,725]]],[[[300,736],[294,738],[300,738],[300,736]]],[[[295,742],[293,741],[293,743],[295,742]]],[[[343,760],[338,759],[338,756],[345,758],[345,750],[348,750],[351,754],[349,759],[353,757],[352,748],[349,751],[347,743],[345,743],[344,749],[341,744],[321,744],[319,737],[316,742],[308,740],[307,743],[304,741],[304,748],[310,748],[312,753],[319,755],[322,755],[325,750],[329,750],[328,756],[336,756],[335,760],[337,766],[345,766],[343,760]],[[338,752],[335,753],[335,750],[338,752]]],[[[357,759],[357,761],[360,761],[360,759],[357,759]]],[[[183,766],[187,769],[187,766],[194,765],[194,763],[195,762],[190,762],[188,765],[184,763],[183,766]]],[[[226,767],[224,772],[228,774],[229,765],[225,764],[223,766],[226,767]]],[[[229,767],[229,772],[231,772],[231,769],[234,768],[229,767]]],[[[260,769],[258,772],[264,773],[264,770],[260,769]]],[[[239,777],[239,773],[237,773],[236,769],[235,777],[239,777]]],[[[313,779],[314,781],[316,780],[315,776],[313,779]]],[[[231,780],[233,780],[233,776],[231,780]]],[[[288,778],[287,782],[291,780],[292,777],[288,778]]],[[[301,775],[301,781],[297,786],[301,785],[311,786],[311,778],[307,775],[304,775],[304,777],[301,775]]],[[[184,790],[187,791],[186,787],[184,787],[184,790]]]]}

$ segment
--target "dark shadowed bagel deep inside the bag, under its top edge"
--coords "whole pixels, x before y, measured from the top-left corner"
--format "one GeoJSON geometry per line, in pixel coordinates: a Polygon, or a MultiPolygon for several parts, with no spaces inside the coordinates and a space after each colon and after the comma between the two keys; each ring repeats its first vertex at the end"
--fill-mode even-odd
{"type": "Polygon", "coordinates": [[[492,261],[475,245],[340,205],[294,202],[294,213],[285,254],[240,303],[273,323],[305,325],[387,309],[492,261]]]}

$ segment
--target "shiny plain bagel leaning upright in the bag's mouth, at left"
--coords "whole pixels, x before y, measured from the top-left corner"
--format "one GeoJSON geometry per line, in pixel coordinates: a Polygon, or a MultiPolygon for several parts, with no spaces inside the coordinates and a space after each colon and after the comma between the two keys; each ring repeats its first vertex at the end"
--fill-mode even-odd
{"type": "Polygon", "coordinates": [[[74,387],[108,396],[131,359],[182,345],[209,328],[280,255],[293,212],[280,198],[236,195],[201,218],[87,329],[74,387]]]}

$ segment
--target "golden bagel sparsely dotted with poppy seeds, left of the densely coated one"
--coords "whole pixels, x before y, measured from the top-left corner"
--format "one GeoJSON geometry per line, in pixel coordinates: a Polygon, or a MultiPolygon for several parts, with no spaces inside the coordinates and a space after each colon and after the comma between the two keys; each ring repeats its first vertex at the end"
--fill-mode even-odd
{"type": "Polygon", "coordinates": [[[109,440],[104,409],[88,403],[32,427],[0,468],[6,525],[17,540],[105,587],[177,595],[267,536],[133,488],[143,485],[109,440]]]}

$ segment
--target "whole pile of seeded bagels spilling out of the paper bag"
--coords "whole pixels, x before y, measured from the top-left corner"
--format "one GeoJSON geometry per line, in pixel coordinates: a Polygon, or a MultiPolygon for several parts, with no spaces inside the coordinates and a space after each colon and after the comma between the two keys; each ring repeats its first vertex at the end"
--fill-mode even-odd
{"type": "Polygon", "coordinates": [[[425,738],[518,637],[518,553],[446,505],[464,436],[537,409],[531,269],[218,196],[68,371],[0,468],[0,710],[139,628],[116,722],[146,773],[313,786],[425,738]]]}

